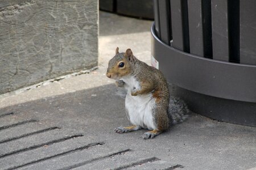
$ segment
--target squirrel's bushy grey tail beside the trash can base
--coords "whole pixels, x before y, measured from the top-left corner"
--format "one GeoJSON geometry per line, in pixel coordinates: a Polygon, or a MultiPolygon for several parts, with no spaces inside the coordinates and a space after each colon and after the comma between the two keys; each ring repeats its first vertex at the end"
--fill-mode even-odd
{"type": "Polygon", "coordinates": [[[170,96],[168,116],[172,125],[185,121],[188,118],[188,113],[189,109],[183,100],[170,96]]]}

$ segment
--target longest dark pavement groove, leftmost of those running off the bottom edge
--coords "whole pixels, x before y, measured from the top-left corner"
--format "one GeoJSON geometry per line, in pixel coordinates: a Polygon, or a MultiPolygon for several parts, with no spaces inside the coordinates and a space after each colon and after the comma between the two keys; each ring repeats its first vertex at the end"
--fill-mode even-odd
{"type": "Polygon", "coordinates": [[[78,152],[78,151],[82,151],[82,150],[85,150],[85,149],[89,149],[90,147],[94,147],[94,146],[98,146],[98,145],[104,145],[104,144],[105,144],[104,142],[89,143],[88,145],[85,145],[85,146],[82,146],[82,147],[77,147],[77,148],[74,148],[74,149],[69,150],[69,151],[61,152],[60,154],[56,154],[56,155],[48,156],[48,157],[46,157],[46,158],[34,160],[34,161],[28,162],[28,163],[26,163],[26,164],[22,164],[22,165],[18,165],[18,166],[15,166],[15,167],[8,168],[8,169],[6,169],[6,170],[11,170],[11,169],[16,169],[16,168],[25,167],[25,166],[27,166],[27,165],[31,165],[31,164],[43,162],[44,160],[48,160],[48,159],[52,159],[52,158],[57,158],[57,157],[60,157],[60,156],[72,154],[72,153],[74,153],[74,152],[78,152]]]}

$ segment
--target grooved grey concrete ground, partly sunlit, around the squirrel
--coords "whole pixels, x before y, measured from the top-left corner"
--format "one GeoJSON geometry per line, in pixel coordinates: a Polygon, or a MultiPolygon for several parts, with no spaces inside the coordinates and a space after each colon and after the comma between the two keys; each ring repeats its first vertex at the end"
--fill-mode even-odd
{"type": "Polygon", "coordinates": [[[115,48],[150,63],[150,21],[100,12],[100,58],[89,74],[0,96],[0,169],[256,169],[256,128],[193,113],[154,139],[129,125],[105,71],[115,48]]]}

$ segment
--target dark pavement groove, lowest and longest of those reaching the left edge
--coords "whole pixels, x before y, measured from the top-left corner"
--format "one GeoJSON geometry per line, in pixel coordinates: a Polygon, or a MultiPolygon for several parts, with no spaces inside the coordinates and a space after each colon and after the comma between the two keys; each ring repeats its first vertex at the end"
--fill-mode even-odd
{"type": "Polygon", "coordinates": [[[5,156],[9,156],[9,155],[13,155],[13,154],[18,154],[20,152],[25,152],[25,151],[28,151],[28,150],[34,150],[36,148],[39,148],[39,147],[42,147],[42,146],[45,146],[45,145],[49,146],[49,145],[52,145],[54,143],[59,143],[59,142],[67,141],[68,139],[73,139],[73,138],[82,137],[82,136],[84,136],[84,135],[81,135],[81,134],[79,134],[79,135],[72,135],[72,136],[69,136],[69,137],[56,139],[56,140],[49,141],[49,142],[46,142],[46,143],[40,143],[39,145],[34,145],[34,146],[22,148],[20,150],[16,150],[16,151],[13,151],[13,152],[9,152],[7,154],[0,155],[0,158],[3,158],[5,156]]]}

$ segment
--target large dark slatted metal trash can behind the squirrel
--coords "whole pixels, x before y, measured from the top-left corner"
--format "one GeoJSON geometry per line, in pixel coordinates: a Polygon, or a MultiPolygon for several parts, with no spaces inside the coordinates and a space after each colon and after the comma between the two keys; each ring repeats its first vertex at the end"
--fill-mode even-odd
{"type": "Polygon", "coordinates": [[[204,116],[256,126],[256,2],[154,0],[151,61],[204,116]]]}

